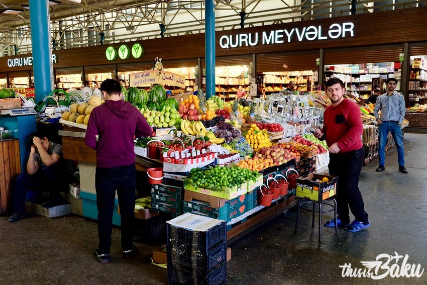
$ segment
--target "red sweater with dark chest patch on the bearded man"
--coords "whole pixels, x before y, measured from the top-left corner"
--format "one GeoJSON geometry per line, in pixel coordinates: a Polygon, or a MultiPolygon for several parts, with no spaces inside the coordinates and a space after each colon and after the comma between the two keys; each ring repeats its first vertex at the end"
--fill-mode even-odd
{"type": "Polygon", "coordinates": [[[344,99],[337,106],[329,106],[324,114],[322,133],[328,146],[338,142],[340,153],[360,149],[363,146],[363,124],[360,109],[356,103],[344,99]]]}

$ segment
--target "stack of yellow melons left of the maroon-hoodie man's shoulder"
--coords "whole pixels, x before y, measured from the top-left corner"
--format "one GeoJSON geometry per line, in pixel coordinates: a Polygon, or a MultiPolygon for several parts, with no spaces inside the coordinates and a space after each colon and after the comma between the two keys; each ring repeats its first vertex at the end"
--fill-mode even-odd
{"type": "Polygon", "coordinates": [[[89,102],[82,104],[74,103],[70,105],[70,111],[62,113],[62,120],[87,125],[89,122],[90,113],[93,108],[102,104],[102,100],[99,96],[92,95],[89,98],[89,102]]]}

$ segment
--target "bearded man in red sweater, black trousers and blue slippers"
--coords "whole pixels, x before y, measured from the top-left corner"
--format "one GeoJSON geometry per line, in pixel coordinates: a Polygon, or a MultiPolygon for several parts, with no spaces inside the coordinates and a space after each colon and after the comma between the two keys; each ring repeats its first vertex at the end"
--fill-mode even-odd
{"type": "Polygon", "coordinates": [[[360,109],[353,101],[345,99],[343,81],[331,78],[326,82],[326,93],[332,105],[325,110],[324,127],[316,130],[317,138],[329,147],[329,173],[338,176],[337,220],[325,223],[326,227],[345,227],[346,231],[358,232],[369,227],[362,194],[359,191],[359,176],[364,159],[362,143],[363,125],[360,109]],[[350,224],[349,207],[355,220],[350,224]]]}

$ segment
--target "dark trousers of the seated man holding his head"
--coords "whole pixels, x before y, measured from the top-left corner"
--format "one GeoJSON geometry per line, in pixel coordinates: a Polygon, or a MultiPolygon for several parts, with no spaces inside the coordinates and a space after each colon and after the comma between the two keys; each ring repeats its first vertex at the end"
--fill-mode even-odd
{"type": "Polygon", "coordinates": [[[28,190],[48,191],[49,198],[60,197],[61,190],[66,187],[67,181],[61,174],[59,163],[51,166],[40,166],[35,174],[22,173],[18,175],[14,187],[14,211],[25,211],[25,200],[28,190]]]}

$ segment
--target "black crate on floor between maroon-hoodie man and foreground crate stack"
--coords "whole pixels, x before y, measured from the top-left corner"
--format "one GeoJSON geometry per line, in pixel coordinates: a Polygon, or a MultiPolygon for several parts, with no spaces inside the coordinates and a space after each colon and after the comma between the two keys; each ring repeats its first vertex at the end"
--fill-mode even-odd
{"type": "Polygon", "coordinates": [[[154,216],[147,220],[135,219],[134,241],[146,244],[164,244],[166,239],[166,223],[162,216],[154,216]]]}

